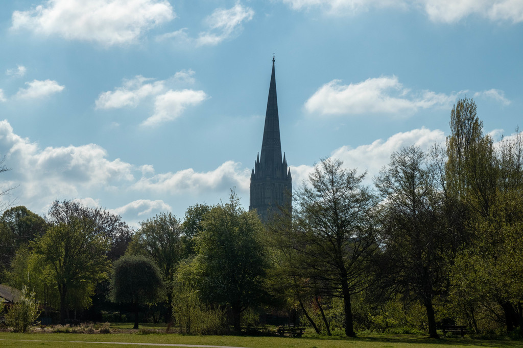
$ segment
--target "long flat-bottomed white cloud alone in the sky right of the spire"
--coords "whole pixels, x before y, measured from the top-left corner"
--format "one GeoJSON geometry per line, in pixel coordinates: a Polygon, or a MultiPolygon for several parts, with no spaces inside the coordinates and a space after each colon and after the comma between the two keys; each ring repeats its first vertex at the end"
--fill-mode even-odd
{"type": "Polygon", "coordinates": [[[342,85],[340,80],[332,80],[320,87],[304,106],[309,113],[321,115],[411,115],[418,109],[448,107],[455,98],[456,95],[432,91],[414,94],[404,88],[396,76],[384,76],[350,85],[342,85]]]}

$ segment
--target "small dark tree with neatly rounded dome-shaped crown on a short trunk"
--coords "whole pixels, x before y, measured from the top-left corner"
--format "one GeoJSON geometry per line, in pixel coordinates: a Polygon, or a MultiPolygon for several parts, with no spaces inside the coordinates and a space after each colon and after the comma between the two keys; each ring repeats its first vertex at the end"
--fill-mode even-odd
{"type": "Polygon", "coordinates": [[[162,286],[160,270],[150,258],[124,255],[113,266],[112,301],[131,303],[134,310],[133,329],[138,329],[139,305],[156,301],[162,286]]]}

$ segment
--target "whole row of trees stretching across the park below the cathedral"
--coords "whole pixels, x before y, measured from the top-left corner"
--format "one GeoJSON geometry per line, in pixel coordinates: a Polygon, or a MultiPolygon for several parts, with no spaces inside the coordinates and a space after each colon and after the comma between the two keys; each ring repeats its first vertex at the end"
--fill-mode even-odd
{"type": "Polygon", "coordinates": [[[523,134],[494,142],[458,100],[446,146],[416,146],[363,184],[324,159],[265,226],[238,198],[161,213],[131,231],[120,217],[55,201],[46,219],[0,219],[2,281],[44,310],[85,318],[149,308],[185,333],[257,325],[260,314],[343,329],[523,332],[523,134]],[[113,303],[112,305],[110,303],[113,303]],[[112,307],[111,307],[112,306],[112,307]],[[89,317],[90,316],[90,317],[89,317]]]}

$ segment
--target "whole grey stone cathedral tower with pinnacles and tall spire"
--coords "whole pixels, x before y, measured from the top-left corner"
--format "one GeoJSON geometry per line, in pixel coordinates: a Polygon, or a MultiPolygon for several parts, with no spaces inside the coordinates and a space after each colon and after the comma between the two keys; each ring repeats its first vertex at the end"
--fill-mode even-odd
{"type": "Polygon", "coordinates": [[[279,207],[291,207],[292,178],[283,154],[281,159],[280,124],[276,98],[275,59],[272,57],[269,98],[261,154],[251,173],[249,210],[256,209],[262,222],[267,222],[279,207]]]}

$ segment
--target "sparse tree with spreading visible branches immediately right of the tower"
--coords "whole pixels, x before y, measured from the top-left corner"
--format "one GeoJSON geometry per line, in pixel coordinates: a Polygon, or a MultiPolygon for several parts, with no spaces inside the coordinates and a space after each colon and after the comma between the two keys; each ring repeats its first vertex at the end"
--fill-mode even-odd
{"type": "Polygon", "coordinates": [[[295,274],[316,294],[343,298],[345,334],[355,337],[351,296],[372,281],[371,258],[378,249],[370,224],[374,196],[362,185],[365,173],[325,159],[294,194],[287,242],[299,259],[295,274]]]}

